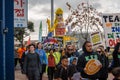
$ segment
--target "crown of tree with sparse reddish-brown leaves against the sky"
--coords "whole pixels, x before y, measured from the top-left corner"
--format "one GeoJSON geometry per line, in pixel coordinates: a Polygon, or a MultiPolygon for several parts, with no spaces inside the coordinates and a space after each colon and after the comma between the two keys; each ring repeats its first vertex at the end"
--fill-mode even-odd
{"type": "MultiPolygon", "coordinates": [[[[77,26],[79,29],[75,29],[77,32],[81,33],[81,36],[84,39],[88,38],[90,31],[101,31],[102,22],[101,22],[101,13],[99,13],[92,5],[88,3],[79,3],[74,9],[68,2],[68,6],[71,15],[68,16],[66,21],[66,26],[71,25],[72,29],[77,26]],[[86,35],[84,34],[86,32],[86,35]]],[[[75,31],[75,32],[76,32],[75,31]]]]}

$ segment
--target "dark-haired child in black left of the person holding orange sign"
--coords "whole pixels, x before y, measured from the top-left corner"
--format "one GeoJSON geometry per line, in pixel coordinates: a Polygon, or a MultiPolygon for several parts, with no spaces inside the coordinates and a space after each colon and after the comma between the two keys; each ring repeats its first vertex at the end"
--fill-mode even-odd
{"type": "Polygon", "coordinates": [[[68,80],[68,57],[61,58],[61,64],[55,70],[55,80],[68,80]]]}

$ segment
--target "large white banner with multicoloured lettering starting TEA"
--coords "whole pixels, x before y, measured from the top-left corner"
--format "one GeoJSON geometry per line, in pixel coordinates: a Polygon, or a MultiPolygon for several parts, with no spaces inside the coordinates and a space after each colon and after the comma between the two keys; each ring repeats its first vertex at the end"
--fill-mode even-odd
{"type": "Polygon", "coordinates": [[[103,27],[107,47],[114,47],[120,39],[120,13],[103,14],[103,27]]]}

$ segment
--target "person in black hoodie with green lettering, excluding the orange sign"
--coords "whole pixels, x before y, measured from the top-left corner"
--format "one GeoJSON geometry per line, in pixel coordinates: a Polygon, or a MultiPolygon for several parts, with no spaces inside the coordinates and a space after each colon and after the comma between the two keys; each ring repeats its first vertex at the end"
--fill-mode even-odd
{"type": "MultiPolygon", "coordinates": [[[[91,80],[96,80],[96,79],[99,79],[100,78],[100,71],[98,71],[97,73],[93,74],[93,75],[88,75],[86,73],[86,64],[89,60],[91,59],[95,59],[95,60],[99,60],[101,61],[101,57],[100,55],[98,55],[97,53],[93,52],[92,50],[92,44],[91,42],[89,41],[86,41],[84,44],[83,44],[83,47],[82,47],[84,53],[81,54],[78,58],[78,62],[77,62],[77,69],[79,72],[81,72],[81,76],[83,78],[88,78],[88,79],[91,79],[91,80]]],[[[98,65],[99,68],[102,67],[101,64],[98,65]]]]}

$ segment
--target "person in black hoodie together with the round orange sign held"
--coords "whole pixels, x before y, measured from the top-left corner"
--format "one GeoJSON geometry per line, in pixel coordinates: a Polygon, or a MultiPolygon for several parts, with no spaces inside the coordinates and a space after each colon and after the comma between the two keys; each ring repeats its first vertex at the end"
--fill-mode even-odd
{"type": "Polygon", "coordinates": [[[92,44],[86,41],[82,47],[84,53],[79,56],[77,69],[81,72],[83,78],[96,80],[100,78],[100,69],[102,67],[101,57],[93,52],[92,44]]]}

